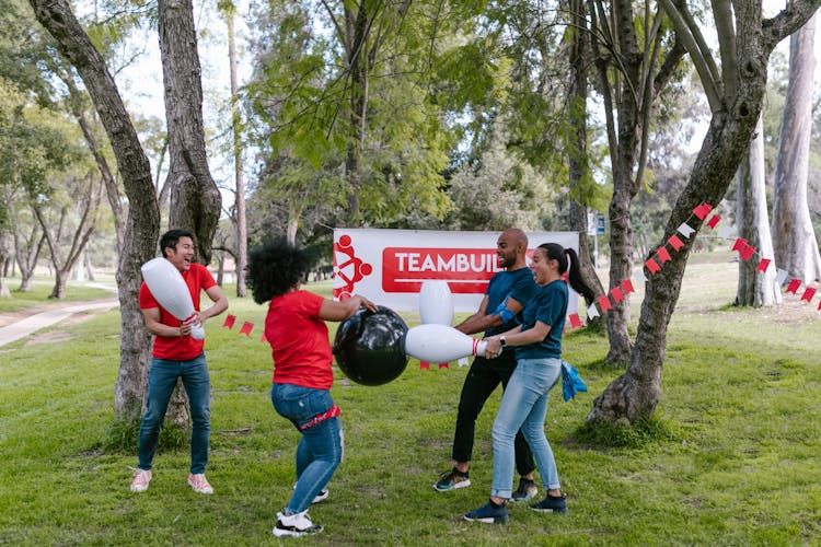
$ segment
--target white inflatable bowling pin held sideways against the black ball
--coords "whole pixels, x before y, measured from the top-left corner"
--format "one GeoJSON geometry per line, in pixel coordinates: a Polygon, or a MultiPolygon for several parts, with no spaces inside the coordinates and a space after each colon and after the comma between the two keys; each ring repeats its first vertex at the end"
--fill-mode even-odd
{"type": "Polygon", "coordinates": [[[417,325],[405,335],[405,353],[433,363],[444,363],[456,359],[484,357],[487,342],[456,330],[448,325],[417,325]]]}

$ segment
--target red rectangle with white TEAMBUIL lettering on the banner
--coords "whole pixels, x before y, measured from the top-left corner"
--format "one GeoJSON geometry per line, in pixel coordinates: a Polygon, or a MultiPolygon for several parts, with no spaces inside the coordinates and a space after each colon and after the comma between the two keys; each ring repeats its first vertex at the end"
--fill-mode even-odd
{"type": "Polygon", "coordinates": [[[419,292],[428,279],[443,279],[453,294],[482,294],[499,270],[496,249],[386,247],[382,251],[382,290],[419,292]]]}

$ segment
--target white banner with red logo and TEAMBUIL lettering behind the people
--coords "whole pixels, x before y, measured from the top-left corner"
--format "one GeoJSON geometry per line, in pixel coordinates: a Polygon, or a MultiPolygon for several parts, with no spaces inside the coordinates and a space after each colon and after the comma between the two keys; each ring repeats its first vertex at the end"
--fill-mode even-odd
{"type": "MultiPolygon", "coordinates": [[[[501,232],[433,230],[334,230],[334,298],[362,294],[394,311],[419,310],[419,288],[442,279],[456,312],[475,312],[490,277],[499,271],[496,241],[501,232]]],[[[578,253],[577,232],[528,232],[528,264],[542,243],[558,243],[578,253]]],[[[569,288],[569,287],[568,287],[569,288]]],[[[570,289],[567,313],[576,313],[570,289]]]]}

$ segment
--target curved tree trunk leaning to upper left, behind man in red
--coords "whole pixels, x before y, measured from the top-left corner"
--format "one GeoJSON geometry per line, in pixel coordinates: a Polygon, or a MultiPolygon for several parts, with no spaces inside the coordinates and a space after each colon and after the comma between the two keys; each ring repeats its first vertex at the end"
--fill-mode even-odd
{"type": "Polygon", "coordinates": [[[120,311],[120,363],[114,387],[116,419],[140,416],[146,392],[149,335],[139,310],[140,265],[154,256],[160,209],[151,165],[142,151],[108,69],[65,0],[30,0],[37,20],[74,66],[105,127],[129,201],[123,254],[117,267],[120,311]]]}

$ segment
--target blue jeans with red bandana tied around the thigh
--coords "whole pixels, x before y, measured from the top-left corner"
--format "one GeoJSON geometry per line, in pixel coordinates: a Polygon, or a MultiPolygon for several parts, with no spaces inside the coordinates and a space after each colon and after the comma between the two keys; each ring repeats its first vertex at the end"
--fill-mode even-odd
{"type": "Polygon", "coordinates": [[[270,401],[281,417],[302,433],[297,445],[297,486],[286,510],[301,513],[334,475],[343,458],[343,432],[338,417],[322,419],[334,401],[327,389],[274,384],[270,401]]]}

